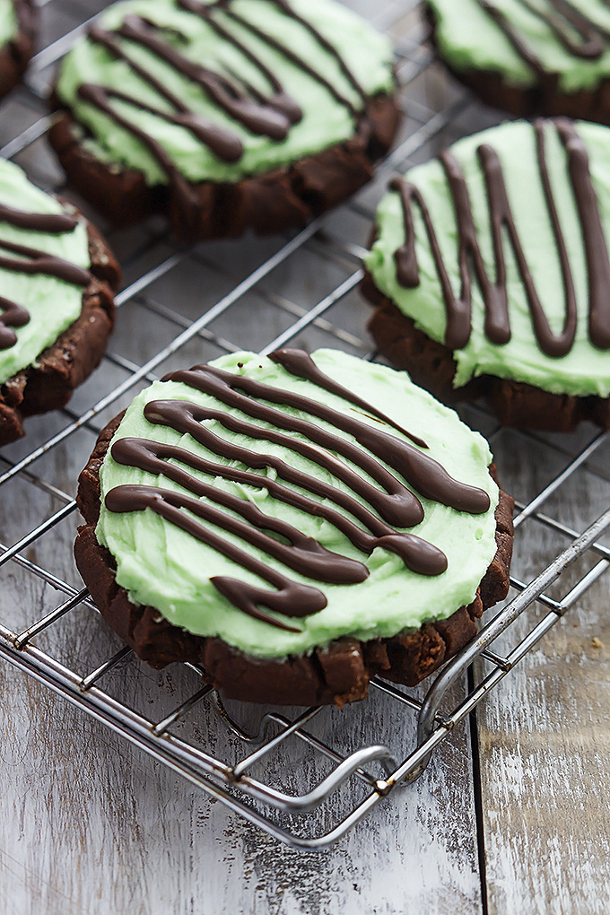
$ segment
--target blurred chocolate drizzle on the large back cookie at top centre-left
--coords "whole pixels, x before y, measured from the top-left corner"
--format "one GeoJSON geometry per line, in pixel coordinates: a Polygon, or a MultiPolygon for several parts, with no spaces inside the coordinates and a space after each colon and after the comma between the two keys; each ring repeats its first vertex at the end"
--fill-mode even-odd
{"type": "MultiPolygon", "coordinates": [[[[305,18],[299,16],[286,0],[271,0],[271,2],[281,14],[294,19],[316,38],[319,47],[337,61],[338,67],[349,85],[364,102],[366,93],[337,49],[305,18]]],[[[279,51],[285,59],[307,73],[312,80],[324,86],[339,104],[344,105],[351,114],[357,116],[357,106],[338,92],[332,82],[312,68],[293,48],[287,47],[279,39],[263,32],[249,19],[232,10],[230,0],[208,4],[201,3],[199,0],[177,0],[177,5],[187,13],[203,19],[221,40],[240,51],[241,55],[259,71],[263,80],[268,83],[269,92],[262,92],[259,88],[255,88],[250,81],[236,75],[229,67],[223,66],[222,72],[216,72],[187,58],[176,47],[176,44],[189,42],[187,35],[177,35],[174,29],[157,25],[151,19],[143,16],[130,14],[125,16],[123,23],[112,31],[99,26],[91,27],[89,40],[105,48],[112,58],[126,64],[141,81],[166,102],[171,111],[167,111],[164,106],[156,107],[141,101],[135,95],[91,83],[81,84],[78,94],[80,99],[111,118],[115,124],[121,126],[144,145],[166,174],[166,178],[185,212],[188,213],[198,206],[194,191],[189,187],[186,178],[181,175],[172,157],[155,139],[155,136],[133,124],[124,109],[123,111],[117,109],[116,102],[123,102],[123,104],[155,115],[168,123],[184,127],[223,162],[238,162],[243,156],[244,145],[239,133],[209,121],[191,110],[187,103],[171,92],[160,78],[155,77],[155,74],[144,64],[134,59],[128,49],[130,45],[146,48],[164,65],[197,85],[222,113],[228,115],[237,124],[241,124],[241,127],[251,134],[267,136],[273,142],[282,142],[288,135],[291,126],[302,119],[301,107],[284,91],[277,74],[271,70],[262,57],[247,47],[241,38],[233,34],[228,27],[230,23],[233,23],[238,27],[238,31],[250,33],[269,48],[273,48],[273,51],[279,51]]]]}

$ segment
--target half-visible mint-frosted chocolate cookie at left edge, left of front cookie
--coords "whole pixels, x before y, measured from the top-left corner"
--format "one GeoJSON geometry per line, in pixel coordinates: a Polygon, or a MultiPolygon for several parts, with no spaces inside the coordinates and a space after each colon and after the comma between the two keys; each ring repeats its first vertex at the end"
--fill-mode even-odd
{"type": "Polygon", "coordinates": [[[78,210],[0,159],[0,445],[64,406],[102,359],[120,276],[78,210]]]}

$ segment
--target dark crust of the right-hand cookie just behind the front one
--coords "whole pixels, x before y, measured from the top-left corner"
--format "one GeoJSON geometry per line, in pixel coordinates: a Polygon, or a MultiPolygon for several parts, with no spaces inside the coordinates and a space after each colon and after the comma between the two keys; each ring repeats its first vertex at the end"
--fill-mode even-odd
{"type": "Polygon", "coordinates": [[[365,274],[360,291],[375,307],[369,331],[381,355],[395,369],[409,372],[419,384],[444,404],[484,397],[502,425],[547,432],[571,432],[583,420],[610,428],[610,398],[554,394],[526,382],[481,375],[459,388],[453,386],[457,363],[453,352],[415,327],[412,318],[365,274]]]}

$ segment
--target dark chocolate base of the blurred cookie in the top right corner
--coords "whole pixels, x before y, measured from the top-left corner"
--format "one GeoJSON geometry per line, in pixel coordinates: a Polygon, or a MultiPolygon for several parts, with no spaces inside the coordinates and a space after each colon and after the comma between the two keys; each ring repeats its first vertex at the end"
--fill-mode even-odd
{"type": "Polygon", "coordinates": [[[592,90],[562,92],[557,73],[546,74],[530,87],[512,86],[498,70],[457,70],[443,55],[436,41],[436,17],[433,9],[424,5],[425,17],[431,27],[430,41],[444,67],[459,82],[487,105],[500,108],[517,117],[570,117],[596,124],[610,125],[610,79],[601,80],[592,90]]]}

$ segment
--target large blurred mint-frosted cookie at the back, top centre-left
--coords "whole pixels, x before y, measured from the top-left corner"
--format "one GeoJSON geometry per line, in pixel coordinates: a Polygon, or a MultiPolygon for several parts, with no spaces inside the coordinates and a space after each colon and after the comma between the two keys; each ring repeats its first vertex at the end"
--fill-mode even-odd
{"type": "Polygon", "coordinates": [[[390,43],[334,0],[130,0],[64,59],[49,139],[115,223],[275,232],[369,180],[394,92],[390,43]]]}

